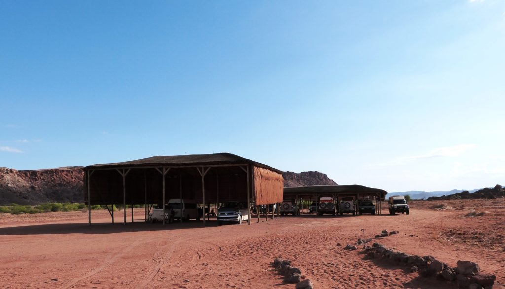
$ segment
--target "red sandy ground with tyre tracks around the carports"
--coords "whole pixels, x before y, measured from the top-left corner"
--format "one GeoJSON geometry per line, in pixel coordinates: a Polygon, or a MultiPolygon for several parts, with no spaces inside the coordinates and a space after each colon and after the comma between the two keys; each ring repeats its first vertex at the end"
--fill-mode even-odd
{"type": "MultiPolygon", "coordinates": [[[[410,215],[281,217],[248,226],[110,224],[107,211],[0,215],[0,288],[294,288],[269,266],[292,260],[316,288],[454,288],[408,268],[345,251],[381,230],[386,247],[456,266],[478,263],[505,283],[505,200],[412,202],[410,215]],[[490,213],[465,217],[474,208],[490,213]],[[337,246],[340,243],[342,246],[337,246]]],[[[385,210],[383,210],[385,212],[385,210]]],[[[131,216],[131,212],[128,212],[131,216]]],[[[116,222],[123,212],[116,212],[116,222]]],[[[118,220],[120,219],[120,220],[118,220]]],[[[131,217],[128,218],[131,221],[131,217]]],[[[372,241],[373,242],[373,241],[372,241]]]]}

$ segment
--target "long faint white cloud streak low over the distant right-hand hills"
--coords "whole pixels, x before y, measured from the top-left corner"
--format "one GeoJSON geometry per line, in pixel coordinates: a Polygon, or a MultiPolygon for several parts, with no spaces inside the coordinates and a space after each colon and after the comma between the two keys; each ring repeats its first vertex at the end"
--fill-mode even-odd
{"type": "Polygon", "coordinates": [[[393,159],[389,162],[385,162],[382,164],[372,164],[368,165],[367,167],[369,168],[384,168],[384,167],[390,167],[390,166],[398,166],[398,165],[404,165],[408,162],[416,161],[416,160],[421,160],[421,159],[430,159],[430,158],[440,158],[440,157],[457,157],[466,151],[475,148],[475,145],[457,145],[457,146],[452,146],[452,147],[442,147],[442,148],[436,148],[431,151],[429,151],[426,154],[422,155],[417,155],[417,156],[407,156],[407,157],[400,157],[393,159]]]}

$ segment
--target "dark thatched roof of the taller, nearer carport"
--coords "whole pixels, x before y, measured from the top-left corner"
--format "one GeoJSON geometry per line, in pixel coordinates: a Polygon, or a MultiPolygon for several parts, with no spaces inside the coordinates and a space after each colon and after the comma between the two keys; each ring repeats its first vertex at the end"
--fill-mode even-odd
{"type": "Polygon", "coordinates": [[[155,156],[140,160],[127,161],[111,164],[96,164],[84,167],[87,169],[105,169],[105,168],[125,168],[125,167],[147,167],[147,166],[206,166],[206,165],[239,165],[251,164],[260,168],[268,169],[279,174],[281,170],[272,168],[262,163],[251,161],[229,153],[205,154],[205,155],[183,155],[183,156],[155,156]]]}

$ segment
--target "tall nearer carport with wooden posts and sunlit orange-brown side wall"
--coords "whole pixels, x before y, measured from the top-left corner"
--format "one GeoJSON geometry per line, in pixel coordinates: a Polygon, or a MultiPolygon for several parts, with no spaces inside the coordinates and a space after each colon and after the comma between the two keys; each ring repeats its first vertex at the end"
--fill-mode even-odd
{"type": "MultiPolygon", "coordinates": [[[[153,204],[170,199],[192,199],[206,205],[246,202],[250,206],[282,202],[282,171],[229,153],[156,156],[146,159],[84,167],[84,200],[88,206],[105,205],[114,223],[114,206],[144,205],[145,220],[153,204]],[[151,205],[150,207],[148,205],[151,205]],[[111,209],[109,209],[111,206],[111,209]]],[[[203,216],[205,225],[205,216],[203,216]]],[[[163,220],[165,224],[165,220],[163,220]]]]}

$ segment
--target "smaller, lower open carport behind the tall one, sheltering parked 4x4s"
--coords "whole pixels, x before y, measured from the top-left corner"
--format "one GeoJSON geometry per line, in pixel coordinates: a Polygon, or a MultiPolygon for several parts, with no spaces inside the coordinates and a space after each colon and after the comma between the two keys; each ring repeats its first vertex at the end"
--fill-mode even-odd
{"type": "MultiPolygon", "coordinates": [[[[387,191],[379,188],[367,187],[358,184],[350,185],[311,185],[311,186],[295,186],[284,188],[284,199],[301,200],[315,200],[319,201],[321,197],[332,197],[333,200],[338,201],[344,197],[355,197],[356,200],[373,198],[375,200],[375,211],[381,214],[382,201],[385,200],[387,191]]],[[[358,206],[356,213],[358,213],[358,206]]],[[[319,210],[319,206],[317,206],[319,210]]]]}

